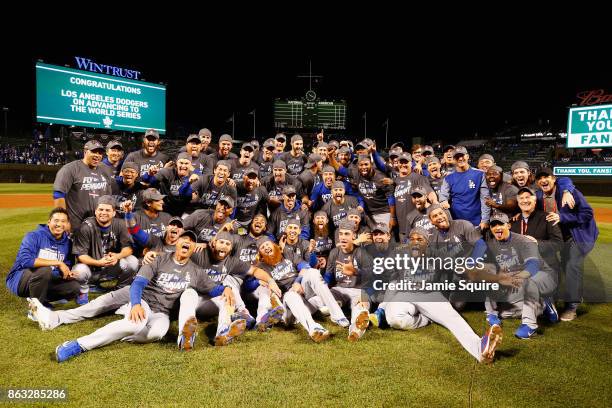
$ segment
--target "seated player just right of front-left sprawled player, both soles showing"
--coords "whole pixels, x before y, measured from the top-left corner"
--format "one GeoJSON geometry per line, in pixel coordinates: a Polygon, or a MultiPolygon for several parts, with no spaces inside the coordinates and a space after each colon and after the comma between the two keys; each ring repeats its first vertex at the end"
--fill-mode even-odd
{"type": "MultiPolygon", "coordinates": [[[[277,296],[281,295],[276,282],[267,272],[241,261],[237,256],[230,256],[232,247],[231,234],[227,231],[220,231],[206,249],[196,253],[193,257],[194,262],[204,269],[210,279],[219,283],[223,282],[232,289],[235,302],[228,308],[222,297],[198,296],[194,290],[186,290],[181,296],[179,311],[181,336],[178,344],[182,350],[193,348],[197,325],[196,314],[204,317],[218,316],[215,337],[217,346],[231,343],[234,338],[244,333],[250,321],[252,321],[252,326],[255,325],[255,319],[251,317],[240,297],[240,286],[247,276],[254,276],[263,281],[277,296]]],[[[282,308],[271,310],[270,313],[281,315],[282,308]]]]}

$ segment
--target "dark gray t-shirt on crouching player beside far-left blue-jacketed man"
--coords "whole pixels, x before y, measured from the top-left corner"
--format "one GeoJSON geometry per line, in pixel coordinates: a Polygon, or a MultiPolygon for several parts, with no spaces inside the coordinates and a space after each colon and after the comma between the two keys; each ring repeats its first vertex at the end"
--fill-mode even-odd
{"type": "Polygon", "coordinates": [[[132,237],[124,220],[113,218],[111,225],[103,228],[96,222],[96,217],[89,217],[74,235],[72,253],[101,259],[107,253],[119,253],[131,244],[132,237]]]}

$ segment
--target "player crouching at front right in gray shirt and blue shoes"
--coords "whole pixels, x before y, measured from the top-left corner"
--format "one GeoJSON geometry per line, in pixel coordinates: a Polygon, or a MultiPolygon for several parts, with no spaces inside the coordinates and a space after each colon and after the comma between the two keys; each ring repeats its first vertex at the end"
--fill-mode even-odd
{"type": "Polygon", "coordinates": [[[557,276],[542,260],[535,238],[510,232],[508,216],[497,213],[490,220],[493,238],[487,242],[493,259],[501,271],[510,272],[524,279],[518,290],[506,290],[497,301],[487,298],[485,307],[489,324],[501,325],[501,316],[521,317],[522,324],[514,335],[528,339],[538,328],[537,316],[544,312],[551,322],[557,322],[557,310],[549,298],[557,289],[557,276]],[[504,306],[509,307],[504,310],[504,306]],[[503,311],[502,311],[503,310],[503,311]]]}

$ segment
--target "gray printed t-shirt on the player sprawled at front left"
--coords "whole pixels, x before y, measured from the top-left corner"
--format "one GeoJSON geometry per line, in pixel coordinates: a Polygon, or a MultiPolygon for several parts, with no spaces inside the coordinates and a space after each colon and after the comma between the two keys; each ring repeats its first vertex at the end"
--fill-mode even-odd
{"type": "Polygon", "coordinates": [[[183,291],[189,287],[206,295],[217,286],[208,275],[191,260],[184,265],[174,259],[174,253],[157,256],[149,265],[143,265],[138,276],[149,280],[142,291],[142,299],[153,312],[169,314],[183,291]]]}

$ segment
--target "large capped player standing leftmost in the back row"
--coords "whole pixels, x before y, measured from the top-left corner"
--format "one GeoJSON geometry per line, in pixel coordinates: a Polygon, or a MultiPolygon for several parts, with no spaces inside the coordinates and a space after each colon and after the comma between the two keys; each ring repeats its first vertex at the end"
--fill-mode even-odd
{"type": "Polygon", "coordinates": [[[64,165],[53,183],[53,205],[68,210],[72,231],[91,217],[98,197],[112,194],[112,176],[106,166],[100,166],[104,147],[97,140],[85,143],[82,160],[64,165]]]}

